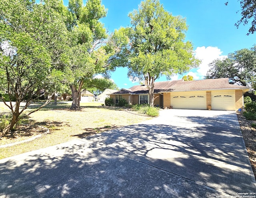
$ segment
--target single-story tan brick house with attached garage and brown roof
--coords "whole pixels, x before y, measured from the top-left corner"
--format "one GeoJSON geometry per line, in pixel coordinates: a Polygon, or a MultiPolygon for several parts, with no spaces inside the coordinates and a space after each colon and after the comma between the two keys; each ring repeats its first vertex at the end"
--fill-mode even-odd
{"type": "MultiPolygon", "coordinates": [[[[246,86],[230,84],[228,78],[155,82],[154,105],[175,109],[238,111],[243,109],[243,94],[248,90],[246,86]]],[[[148,88],[145,85],[122,88],[110,94],[110,97],[114,103],[118,103],[120,97],[129,104],[149,103],[148,88]]]]}

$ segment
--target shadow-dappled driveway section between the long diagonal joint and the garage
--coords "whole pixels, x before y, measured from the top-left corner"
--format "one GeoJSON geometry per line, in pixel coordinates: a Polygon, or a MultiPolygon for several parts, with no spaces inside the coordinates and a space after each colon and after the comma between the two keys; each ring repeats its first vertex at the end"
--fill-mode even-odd
{"type": "Polygon", "coordinates": [[[254,191],[255,178],[234,114],[178,116],[178,122],[167,124],[160,119],[160,124],[148,121],[87,139],[228,194],[254,191]]]}

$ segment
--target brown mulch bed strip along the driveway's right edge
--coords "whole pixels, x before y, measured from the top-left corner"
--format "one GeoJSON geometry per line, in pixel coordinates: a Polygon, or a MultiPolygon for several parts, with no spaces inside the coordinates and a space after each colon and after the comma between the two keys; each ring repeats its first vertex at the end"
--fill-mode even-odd
{"type": "Polygon", "coordinates": [[[244,137],[244,143],[252,164],[252,171],[256,178],[256,129],[251,126],[252,123],[256,124],[255,120],[246,120],[243,114],[236,114],[242,135],[244,137]]]}

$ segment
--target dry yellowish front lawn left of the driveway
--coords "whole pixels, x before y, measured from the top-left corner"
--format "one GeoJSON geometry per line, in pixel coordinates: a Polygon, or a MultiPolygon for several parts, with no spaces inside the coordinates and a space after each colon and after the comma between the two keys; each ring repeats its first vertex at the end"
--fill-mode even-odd
{"type": "MultiPolygon", "coordinates": [[[[0,106],[2,105],[3,104],[0,104],[0,106]]],[[[40,104],[34,104],[34,107],[38,105],[40,104]]],[[[28,118],[29,125],[48,127],[50,133],[42,133],[41,137],[30,142],[1,148],[0,159],[64,143],[75,138],[84,138],[88,135],[100,133],[116,127],[152,119],[145,116],[130,114],[123,108],[108,108],[104,106],[88,106],[87,104],[81,104],[82,109],[80,111],[73,111],[69,110],[70,105],[70,103],[58,103],[57,106],[48,104],[46,108],[31,114],[28,118]]],[[[28,110],[31,110],[34,107],[32,105],[28,110]]],[[[7,113],[7,111],[4,112],[4,114],[7,113]]],[[[31,130],[27,130],[26,133],[31,135],[22,135],[22,139],[36,135],[35,133],[32,133],[31,130]]],[[[14,133],[14,137],[0,138],[0,145],[20,141],[20,139],[18,133],[14,133]]]]}

